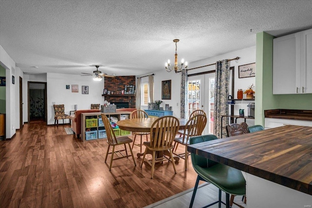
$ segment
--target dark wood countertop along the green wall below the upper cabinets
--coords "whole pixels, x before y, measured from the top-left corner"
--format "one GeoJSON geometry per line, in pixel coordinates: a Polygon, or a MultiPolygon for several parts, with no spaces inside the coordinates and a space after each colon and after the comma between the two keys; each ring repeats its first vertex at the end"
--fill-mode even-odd
{"type": "Polygon", "coordinates": [[[265,110],[264,117],[312,121],[312,111],[311,110],[287,110],[287,109],[265,110]]]}

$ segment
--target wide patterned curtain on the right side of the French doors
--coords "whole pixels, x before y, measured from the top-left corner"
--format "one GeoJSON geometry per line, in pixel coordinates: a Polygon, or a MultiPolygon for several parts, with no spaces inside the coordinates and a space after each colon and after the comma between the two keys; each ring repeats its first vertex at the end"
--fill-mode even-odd
{"type": "MultiPolygon", "coordinates": [[[[228,60],[215,63],[215,110],[214,110],[214,134],[221,138],[221,115],[229,114],[228,96],[230,80],[230,63],[228,60]]],[[[229,119],[223,126],[229,124],[229,119]]],[[[225,131],[223,131],[225,132],[225,131]]]]}

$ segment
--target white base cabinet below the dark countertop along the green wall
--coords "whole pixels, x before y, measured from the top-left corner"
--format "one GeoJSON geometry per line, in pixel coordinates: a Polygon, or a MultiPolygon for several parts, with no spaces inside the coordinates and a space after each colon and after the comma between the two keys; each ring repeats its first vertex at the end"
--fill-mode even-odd
{"type": "Polygon", "coordinates": [[[310,126],[312,127],[312,121],[292,120],[292,119],[280,119],[280,118],[264,118],[264,128],[271,129],[284,125],[296,125],[296,126],[310,126]]]}

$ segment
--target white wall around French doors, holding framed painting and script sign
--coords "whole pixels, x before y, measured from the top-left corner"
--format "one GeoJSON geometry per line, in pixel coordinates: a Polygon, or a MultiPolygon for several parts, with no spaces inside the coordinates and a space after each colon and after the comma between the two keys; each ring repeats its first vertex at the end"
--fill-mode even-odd
{"type": "MultiPolygon", "coordinates": [[[[223,59],[232,59],[234,57],[240,57],[239,60],[231,61],[230,66],[234,66],[234,98],[237,98],[237,90],[243,89],[246,90],[251,84],[255,85],[255,77],[248,78],[238,78],[238,66],[254,63],[255,62],[255,46],[250,48],[245,48],[242,50],[234,51],[231,53],[223,54],[216,57],[205,58],[202,60],[194,61],[188,64],[188,69],[204,66],[208,64],[215,63],[218,60],[223,59]]],[[[186,59],[187,60],[187,59],[186,59]]],[[[195,74],[199,72],[206,72],[215,70],[215,65],[203,67],[199,69],[189,70],[188,74],[195,74]]],[[[173,114],[176,117],[180,117],[180,82],[181,82],[181,73],[175,72],[166,72],[165,68],[160,71],[154,72],[154,86],[155,86],[155,100],[161,100],[161,81],[171,79],[172,87],[171,87],[171,100],[162,100],[163,103],[160,105],[161,107],[165,107],[165,104],[169,104],[169,106],[173,107],[173,114]]],[[[244,101],[243,104],[236,101],[237,105],[234,106],[234,114],[238,114],[239,109],[245,110],[245,115],[248,113],[248,101],[244,101]]],[[[208,105],[208,103],[207,103],[208,105]]],[[[237,122],[240,122],[237,120],[237,122]]],[[[248,125],[254,125],[254,120],[247,120],[248,125]]]]}

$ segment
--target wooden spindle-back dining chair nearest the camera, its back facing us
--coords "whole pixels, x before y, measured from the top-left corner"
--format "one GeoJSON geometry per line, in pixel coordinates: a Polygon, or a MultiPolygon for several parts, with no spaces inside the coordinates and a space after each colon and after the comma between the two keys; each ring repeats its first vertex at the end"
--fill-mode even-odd
{"type": "Polygon", "coordinates": [[[176,132],[179,129],[179,120],[172,116],[162,116],[156,119],[156,121],[151,126],[151,139],[150,142],[143,142],[143,145],[146,147],[143,159],[141,162],[141,168],[143,162],[146,161],[150,166],[152,166],[152,173],[151,178],[153,179],[154,170],[155,170],[155,163],[156,162],[163,162],[168,160],[172,163],[175,173],[176,173],[176,165],[172,153],[173,149],[173,141],[176,136],[176,132]],[[145,159],[145,155],[148,151],[152,151],[152,160],[145,159]],[[170,152],[170,158],[164,155],[163,151],[170,152]],[[156,158],[156,152],[157,158],[156,158]]]}

